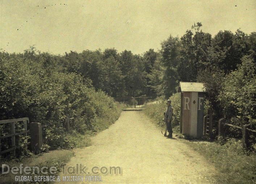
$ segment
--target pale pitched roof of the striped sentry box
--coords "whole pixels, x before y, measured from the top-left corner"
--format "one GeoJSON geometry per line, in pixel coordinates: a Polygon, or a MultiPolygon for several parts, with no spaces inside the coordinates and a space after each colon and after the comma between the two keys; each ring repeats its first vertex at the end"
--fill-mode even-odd
{"type": "Polygon", "coordinates": [[[180,82],[178,92],[206,92],[201,82],[180,82]]]}

